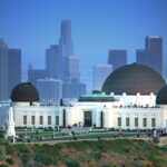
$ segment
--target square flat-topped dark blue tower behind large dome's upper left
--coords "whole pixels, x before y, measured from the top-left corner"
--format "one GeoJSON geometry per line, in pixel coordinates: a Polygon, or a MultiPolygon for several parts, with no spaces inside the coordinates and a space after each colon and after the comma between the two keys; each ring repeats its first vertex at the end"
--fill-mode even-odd
{"type": "Polygon", "coordinates": [[[125,66],[127,63],[127,51],[122,49],[109,50],[108,63],[112,65],[114,70],[121,66],[125,66]]]}

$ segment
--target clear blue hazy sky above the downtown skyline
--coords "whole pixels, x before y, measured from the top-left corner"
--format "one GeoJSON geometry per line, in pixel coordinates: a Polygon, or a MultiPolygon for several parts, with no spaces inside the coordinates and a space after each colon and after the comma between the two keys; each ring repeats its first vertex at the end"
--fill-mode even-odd
{"type": "Polygon", "coordinates": [[[22,49],[23,71],[45,66],[45,50],[57,43],[60,21],[71,19],[82,80],[107,61],[108,49],[144,48],[148,35],[163,36],[167,48],[167,0],[0,0],[0,37],[22,49]]]}

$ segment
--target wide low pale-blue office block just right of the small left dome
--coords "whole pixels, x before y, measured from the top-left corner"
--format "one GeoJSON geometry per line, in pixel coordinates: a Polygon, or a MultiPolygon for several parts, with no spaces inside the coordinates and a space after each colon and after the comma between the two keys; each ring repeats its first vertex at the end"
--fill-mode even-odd
{"type": "Polygon", "coordinates": [[[45,104],[59,104],[62,98],[62,81],[58,79],[38,79],[37,89],[45,104]]]}

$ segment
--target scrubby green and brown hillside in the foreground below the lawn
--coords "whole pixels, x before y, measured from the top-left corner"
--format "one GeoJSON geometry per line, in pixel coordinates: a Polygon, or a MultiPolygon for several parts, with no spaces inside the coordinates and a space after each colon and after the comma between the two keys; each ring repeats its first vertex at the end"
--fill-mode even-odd
{"type": "Polygon", "coordinates": [[[57,145],[3,143],[0,148],[3,148],[0,151],[6,153],[4,164],[14,167],[167,167],[167,147],[159,148],[143,140],[115,139],[57,145]]]}

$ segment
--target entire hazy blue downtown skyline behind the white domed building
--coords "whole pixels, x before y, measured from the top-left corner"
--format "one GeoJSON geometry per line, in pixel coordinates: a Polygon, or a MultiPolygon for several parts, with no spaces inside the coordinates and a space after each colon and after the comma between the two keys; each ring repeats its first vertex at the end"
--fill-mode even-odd
{"type": "MultiPolygon", "coordinates": [[[[58,43],[46,49],[45,68],[28,68],[28,81],[40,92],[43,104],[59,104],[60,99],[79,98],[86,94],[80,81],[79,57],[73,51],[71,21],[62,20],[58,43]]],[[[107,63],[92,68],[92,90],[101,90],[109,75],[128,63],[126,49],[109,49],[107,63]]],[[[163,38],[148,36],[145,48],[136,50],[137,63],[153,68],[163,76],[163,38]]],[[[9,48],[0,39],[0,101],[9,100],[11,90],[21,82],[21,50],[9,48]]]]}

